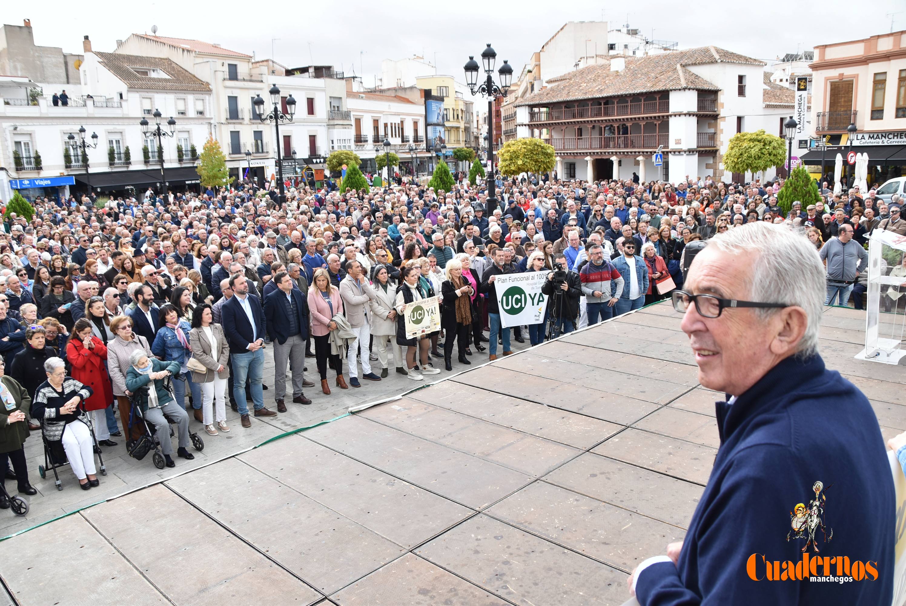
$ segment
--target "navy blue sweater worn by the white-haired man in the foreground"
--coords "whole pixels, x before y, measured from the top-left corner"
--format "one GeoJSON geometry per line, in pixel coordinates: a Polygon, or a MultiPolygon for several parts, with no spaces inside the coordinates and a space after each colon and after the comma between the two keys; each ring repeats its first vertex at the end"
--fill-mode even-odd
{"type": "Polygon", "coordinates": [[[642,606],[890,604],[893,480],[863,393],[827,370],[821,357],[790,357],[732,405],[718,402],[717,416],[720,449],[679,566],[659,562],[639,574],[642,606]],[[862,581],[786,580],[786,562],[803,562],[808,541],[807,532],[795,537],[791,513],[798,503],[810,508],[817,481],[824,484],[818,499],[824,529],[815,533],[820,552],[807,550],[810,560],[819,559],[814,576],[864,576],[862,581]],[[848,572],[838,572],[843,556],[848,572]],[[770,576],[777,571],[783,580],[768,579],[766,562],[770,576]]]}

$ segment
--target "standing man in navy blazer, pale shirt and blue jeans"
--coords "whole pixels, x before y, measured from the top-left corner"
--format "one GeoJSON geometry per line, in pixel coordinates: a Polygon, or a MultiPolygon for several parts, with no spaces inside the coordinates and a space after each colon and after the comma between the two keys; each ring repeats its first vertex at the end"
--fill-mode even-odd
{"type": "Polygon", "coordinates": [[[220,324],[224,328],[233,360],[233,396],[236,410],[241,415],[242,426],[251,427],[246,403],[246,376],[251,386],[255,416],[275,416],[274,411],[265,408],[265,392],[262,380],[265,373],[265,312],[261,299],[248,294],[248,281],[242,274],[229,279],[233,289],[231,297],[220,311],[220,324]]]}

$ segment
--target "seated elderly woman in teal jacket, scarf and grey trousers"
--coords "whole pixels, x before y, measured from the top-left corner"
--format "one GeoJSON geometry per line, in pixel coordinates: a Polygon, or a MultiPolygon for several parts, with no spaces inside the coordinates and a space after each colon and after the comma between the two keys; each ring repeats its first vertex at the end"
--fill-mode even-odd
{"type": "Polygon", "coordinates": [[[179,432],[179,448],[177,454],[184,459],[195,458],[186,450],[188,445],[188,415],[186,409],[179,406],[169,391],[164,387],[163,379],[174,376],[179,372],[179,362],[161,362],[155,357],[148,357],[144,349],[135,349],[129,355],[129,370],[126,373],[126,389],[133,394],[142,391],[140,406],[145,420],[157,428],[160,449],[168,467],[176,467],[171,458],[173,443],[169,436],[169,421],[164,415],[169,416],[177,424],[179,432]],[[150,385],[153,382],[153,385],[150,385]]]}

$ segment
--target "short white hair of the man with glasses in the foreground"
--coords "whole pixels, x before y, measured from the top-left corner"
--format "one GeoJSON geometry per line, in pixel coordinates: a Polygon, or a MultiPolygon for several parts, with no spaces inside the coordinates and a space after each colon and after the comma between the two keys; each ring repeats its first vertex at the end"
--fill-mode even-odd
{"type": "MultiPolygon", "coordinates": [[[[805,310],[805,335],[796,348],[800,357],[818,353],[818,327],[824,310],[824,264],[814,245],[782,225],[757,221],[719,233],[709,247],[733,255],[746,255],[752,266],[749,296],[764,303],[784,303],[805,310]]],[[[776,308],[756,308],[766,319],[776,308]]]]}

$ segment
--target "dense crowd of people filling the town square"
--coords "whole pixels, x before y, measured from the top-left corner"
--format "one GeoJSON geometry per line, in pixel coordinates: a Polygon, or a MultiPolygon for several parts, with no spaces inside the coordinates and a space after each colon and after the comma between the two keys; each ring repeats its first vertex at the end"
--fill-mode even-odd
{"type": "Polygon", "coordinates": [[[101,447],[131,445],[142,431],[133,406],[159,430],[168,466],[169,423],[176,454],[191,459],[192,418],[213,436],[230,431],[227,403],[243,427],[310,405],[307,358],[330,396],[392,372],[423,381],[485,352],[508,356],[514,340],[538,345],[670,297],[708,239],[747,223],[810,239],[826,258],[828,298],[845,305],[864,274],[860,242],[879,226],[906,233],[899,200],[825,191],[826,202],[784,213],[781,186],[498,176],[491,204],[485,184],[462,174],[452,191],[339,191],[331,181],[284,198],[245,183],[105,204],[39,198],[30,219],[5,214],[0,233],[5,476],[34,494],[22,443],[40,430],[91,488],[87,427],[101,447]],[[525,271],[547,273],[543,292],[557,304],[539,324],[503,327],[496,277],[525,271]],[[833,293],[831,279],[842,282],[833,293]],[[432,297],[439,330],[407,337],[407,307],[432,297]]]}

